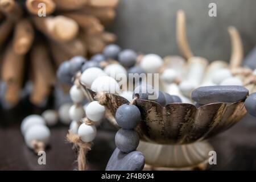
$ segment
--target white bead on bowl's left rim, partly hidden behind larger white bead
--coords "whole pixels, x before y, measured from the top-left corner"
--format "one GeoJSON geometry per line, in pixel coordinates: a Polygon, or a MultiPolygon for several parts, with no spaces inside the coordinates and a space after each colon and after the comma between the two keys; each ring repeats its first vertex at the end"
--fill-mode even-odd
{"type": "Polygon", "coordinates": [[[90,86],[92,85],[92,82],[100,76],[106,76],[106,73],[100,69],[100,68],[88,68],[85,69],[84,72],[82,72],[82,75],[80,77],[80,81],[82,82],[82,84],[84,84],[87,88],[90,88],[90,86]]]}

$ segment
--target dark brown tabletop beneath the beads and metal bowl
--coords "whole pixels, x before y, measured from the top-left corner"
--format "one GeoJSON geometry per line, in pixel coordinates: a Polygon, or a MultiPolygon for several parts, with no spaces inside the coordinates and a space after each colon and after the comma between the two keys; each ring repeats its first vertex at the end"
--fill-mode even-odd
{"type": "MultiPolygon", "coordinates": [[[[51,128],[51,140],[46,150],[46,165],[39,165],[39,156],[24,143],[20,133],[22,118],[42,109],[18,107],[15,111],[0,113],[0,170],[73,170],[76,169],[75,152],[65,140],[68,126],[60,123],[51,128]],[[18,111],[17,111],[18,110],[18,111]]],[[[104,170],[114,150],[115,129],[108,123],[100,127],[94,146],[88,154],[89,169],[104,170]]],[[[217,165],[209,170],[256,169],[256,119],[246,115],[228,131],[210,139],[217,152],[217,165]]]]}

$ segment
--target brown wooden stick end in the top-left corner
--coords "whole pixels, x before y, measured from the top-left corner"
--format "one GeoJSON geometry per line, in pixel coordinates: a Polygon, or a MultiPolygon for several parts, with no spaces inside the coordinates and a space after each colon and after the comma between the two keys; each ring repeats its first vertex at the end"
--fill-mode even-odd
{"type": "Polygon", "coordinates": [[[18,21],[23,14],[22,8],[14,0],[1,0],[1,11],[11,19],[18,21]]]}

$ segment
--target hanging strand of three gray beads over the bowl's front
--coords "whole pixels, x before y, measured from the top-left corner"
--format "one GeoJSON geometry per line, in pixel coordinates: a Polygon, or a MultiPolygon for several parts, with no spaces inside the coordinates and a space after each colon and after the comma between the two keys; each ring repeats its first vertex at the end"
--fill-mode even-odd
{"type": "Polygon", "coordinates": [[[121,105],[115,113],[115,120],[121,129],[115,134],[117,148],[109,159],[107,171],[139,171],[144,167],[144,156],[136,151],[139,135],[134,128],[141,121],[141,111],[134,105],[136,99],[137,97],[130,104],[121,105]]]}

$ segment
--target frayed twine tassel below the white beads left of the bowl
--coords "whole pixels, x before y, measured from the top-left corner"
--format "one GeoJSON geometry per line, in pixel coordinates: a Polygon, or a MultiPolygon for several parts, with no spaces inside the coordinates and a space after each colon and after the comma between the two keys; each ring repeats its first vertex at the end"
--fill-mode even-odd
{"type": "Polygon", "coordinates": [[[88,166],[86,162],[86,154],[91,150],[93,143],[82,142],[79,138],[79,135],[73,134],[71,131],[68,131],[67,140],[70,143],[73,143],[73,148],[77,148],[79,154],[77,156],[77,163],[79,171],[85,171],[88,166]]]}

